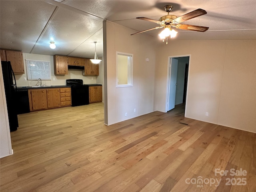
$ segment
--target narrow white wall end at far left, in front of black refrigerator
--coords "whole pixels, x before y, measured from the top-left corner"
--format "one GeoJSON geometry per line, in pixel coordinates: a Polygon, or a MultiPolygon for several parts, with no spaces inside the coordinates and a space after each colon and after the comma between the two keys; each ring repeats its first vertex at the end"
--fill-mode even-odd
{"type": "Polygon", "coordinates": [[[10,126],[4,92],[4,80],[2,76],[2,66],[0,66],[0,158],[11,155],[12,143],[10,136],[10,126]]]}

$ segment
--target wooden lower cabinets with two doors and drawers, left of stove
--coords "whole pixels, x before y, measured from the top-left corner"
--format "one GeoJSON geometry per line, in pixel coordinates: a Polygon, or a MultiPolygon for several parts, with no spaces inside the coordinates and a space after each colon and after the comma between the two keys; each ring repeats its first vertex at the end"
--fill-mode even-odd
{"type": "Polygon", "coordinates": [[[29,89],[30,111],[71,106],[70,88],[29,89]]]}

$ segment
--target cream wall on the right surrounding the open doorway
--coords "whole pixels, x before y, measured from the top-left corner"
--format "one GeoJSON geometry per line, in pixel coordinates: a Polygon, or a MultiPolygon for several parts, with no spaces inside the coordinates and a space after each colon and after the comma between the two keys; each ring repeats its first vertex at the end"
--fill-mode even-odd
{"type": "Polygon", "coordinates": [[[256,132],[255,40],[173,40],[160,45],[155,110],[165,111],[168,57],[178,55],[191,55],[186,117],[256,132]]]}

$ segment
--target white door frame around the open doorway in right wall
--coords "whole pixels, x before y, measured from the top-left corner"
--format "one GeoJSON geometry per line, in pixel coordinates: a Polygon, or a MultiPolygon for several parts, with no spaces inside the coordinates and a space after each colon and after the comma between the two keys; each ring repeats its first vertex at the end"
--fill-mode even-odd
{"type": "Polygon", "coordinates": [[[187,91],[186,91],[186,102],[185,102],[185,117],[186,117],[186,111],[187,111],[187,102],[188,102],[188,86],[189,86],[189,76],[190,76],[190,61],[191,61],[191,54],[188,55],[178,55],[178,56],[169,56],[168,57],[168,64],[167,64],[167,76],[166,76],[166,100],[165,100],[165,112],[167,112],[168,107],[168,90],[170,85],[170,69],[169,65],[171,64],[171,58],[179,58],[179,57],[189,57],[188,61],[188,83],[187,83],[187,91]]]}

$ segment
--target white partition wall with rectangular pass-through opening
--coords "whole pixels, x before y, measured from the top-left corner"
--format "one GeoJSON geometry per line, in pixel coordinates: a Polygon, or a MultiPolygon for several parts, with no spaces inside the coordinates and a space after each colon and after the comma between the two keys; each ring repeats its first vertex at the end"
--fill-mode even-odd
{"type": "Polygon", "coordinates": [[[146,35],[131,36],[134,30],[109,21],[104,22],[103,30],[104,78],[107,78],[105,123],[110,125],[152,112],[156,62],[152,38],[146,35]],[[133,54],[132,87],[116,88],[116,52],[133,54]],[[149,62],[146,62],[146,57],[150,58],[149,62]]]}

